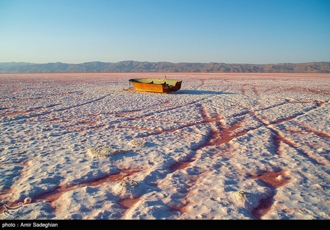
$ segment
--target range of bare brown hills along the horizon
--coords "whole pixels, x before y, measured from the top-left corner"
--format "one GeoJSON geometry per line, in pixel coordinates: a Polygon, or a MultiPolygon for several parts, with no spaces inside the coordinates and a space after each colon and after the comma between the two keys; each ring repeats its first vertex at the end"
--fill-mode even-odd
{"type": "Polygon", "coordinates": [[[226,63],[171,63],[171,62],[86,62],[66,64],[61,62],[35,64],[26,62],[0,63],[2,73],[38,72],[292,72],[330,73],[330,62],[280,63],[280,64],[226,64],[226,63]]]}

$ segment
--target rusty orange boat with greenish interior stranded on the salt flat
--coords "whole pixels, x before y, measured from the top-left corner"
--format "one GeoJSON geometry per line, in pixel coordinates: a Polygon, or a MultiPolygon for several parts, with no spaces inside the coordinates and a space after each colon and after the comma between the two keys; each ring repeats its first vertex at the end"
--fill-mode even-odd
{"type": "Polygon", "coordinates": [[[134,78],[129,79],[129,82],[137,90],[161,93],[175,92],[181,88],[182,83],[181,80],[158,78],[134,78]]]}

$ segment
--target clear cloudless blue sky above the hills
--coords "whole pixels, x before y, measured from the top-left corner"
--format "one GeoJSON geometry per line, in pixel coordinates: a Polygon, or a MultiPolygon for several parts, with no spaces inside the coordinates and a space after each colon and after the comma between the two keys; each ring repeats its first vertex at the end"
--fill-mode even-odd
{"type": "Polygon", "coordinates": [[[0,0],[0,62],[330,61],[329,0],[0,0]]]}

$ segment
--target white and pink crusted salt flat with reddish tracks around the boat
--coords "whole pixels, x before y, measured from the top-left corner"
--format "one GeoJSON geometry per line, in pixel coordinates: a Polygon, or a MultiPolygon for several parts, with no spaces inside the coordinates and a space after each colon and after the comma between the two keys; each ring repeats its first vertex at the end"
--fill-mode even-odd
{"type": "Polygon", "coordinates": [[[15,218],[330,218],[329,74],[166,75],[182,89],[0,74],[1,213],[30,197],[15,218]]]}

